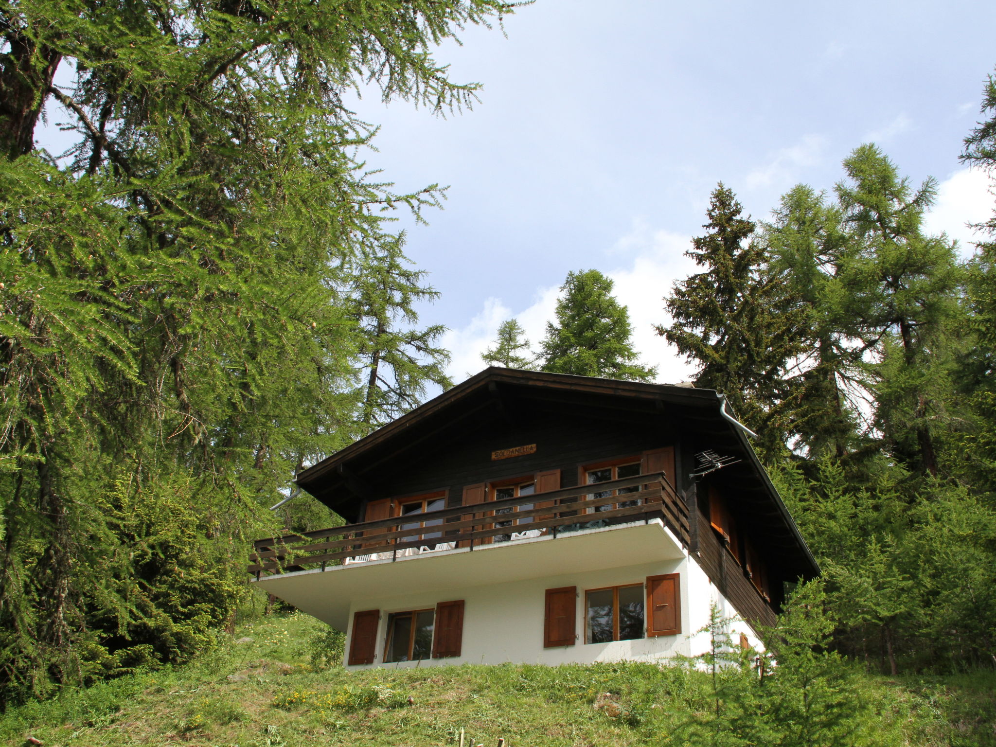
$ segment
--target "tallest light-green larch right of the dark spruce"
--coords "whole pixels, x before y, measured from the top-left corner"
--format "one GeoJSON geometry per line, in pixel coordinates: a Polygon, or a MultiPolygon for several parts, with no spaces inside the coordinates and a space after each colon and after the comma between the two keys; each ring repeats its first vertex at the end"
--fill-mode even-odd
{"type": "Polygon", "coordinates": [[[871,143],[844,168],[838,199],[861,247],[842,275],[855,289],[851,313],[874,354],[875,425],[895,457],[935,475],[939,441],[955,420],[948,405],[962,270],[954,242],[923,230],[936,194],[932,178],[914,189],[871,143]]]}

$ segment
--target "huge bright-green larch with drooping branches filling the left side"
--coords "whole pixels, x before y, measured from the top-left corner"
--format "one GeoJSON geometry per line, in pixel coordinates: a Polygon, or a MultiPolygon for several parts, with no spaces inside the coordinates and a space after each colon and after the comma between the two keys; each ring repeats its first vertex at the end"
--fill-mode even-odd
{"type": "Polygon", "coordinates": [[[234,614],[245,533],[356,435],[349,268],[438,197],[370,180],[344,99],[469,104],[432,48],[514,10],[0,10],[0,698],[182,660],[234,614]]]}

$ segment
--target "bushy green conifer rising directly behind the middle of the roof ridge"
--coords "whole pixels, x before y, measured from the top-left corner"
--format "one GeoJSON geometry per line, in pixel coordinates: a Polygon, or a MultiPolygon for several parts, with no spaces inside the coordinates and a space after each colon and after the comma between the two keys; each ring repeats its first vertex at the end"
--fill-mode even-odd
{"type": "Polygon", "coordinates": [[[613,297],[613,281],[598,270],[569,272],[557,302],[557,324],[547,323],[543,371],[649,381],[629,340],[629,312],[613,297]]]}

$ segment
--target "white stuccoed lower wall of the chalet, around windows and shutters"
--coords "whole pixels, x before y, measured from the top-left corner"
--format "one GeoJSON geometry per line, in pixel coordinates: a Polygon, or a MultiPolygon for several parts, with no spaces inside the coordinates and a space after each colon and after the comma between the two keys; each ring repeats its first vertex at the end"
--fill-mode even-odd
{"type": "MultiPolygon", "coordinates": [[[[498,554],[496,554],[497,556],[498,554]]],[[[375,664],[349,667],[367,669],[376,666],[410,667],[451,665],[464,662],[498,664],[504,662],[562,664],[591,663],[595,661],[656,661],[675,654],[697,655],[709,648],[709,635],[696,632],[709,622],[710,606],[715,603],[724,618],[736,616],[733,606],[692,558],[666,561],[639,566],[625,566],[583,574],[565,574],[541,579],[530,579],[509,584],[496,584],[469,588],[454,588],[448,594],[419,594],[377,597],[371,595],[350,610],[353,615],[362,610],[379,610],[375,664]],[[585,591],[604,587],[643,583],[647,576],[680,574],[681,633],[661,635],[637,640],[619,640],[610,643],[585,643],[585,591]],[[547,589],[575,586],[578,588],[577,630],[575,645],[556,648],[543,647],[543,619],[547,589]],[[463,645],[460,657],[423,659],[380,663],[386,633],[387,615],[407,610],[427,610],[438,602],[464,600],[463,645]]],[[[761,642],[754,631],[739,619],[731,622],[729,633],[736,644],[739,633],[744,632],[750,643],[760,648],[761,642]]],[[[352,634],[352,629],[348,631],[352,634]]],[[[349,641],[347,642],[349,651],[349,641]]]]}

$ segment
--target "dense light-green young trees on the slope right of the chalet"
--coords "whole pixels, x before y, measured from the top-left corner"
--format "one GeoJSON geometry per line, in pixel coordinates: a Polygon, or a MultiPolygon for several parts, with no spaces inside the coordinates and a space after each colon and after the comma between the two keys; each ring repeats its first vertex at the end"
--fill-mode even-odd
{"type": "Polygon", "coordinates": [[[996,511],[964,487],[880,465],[856,484],[823,461],[776,481],[826,580],[834,645],[893,675],[987,665],[996,653],[996,511]]]}

